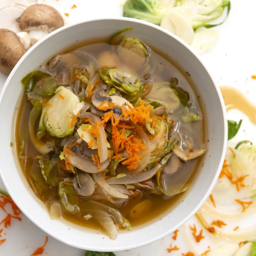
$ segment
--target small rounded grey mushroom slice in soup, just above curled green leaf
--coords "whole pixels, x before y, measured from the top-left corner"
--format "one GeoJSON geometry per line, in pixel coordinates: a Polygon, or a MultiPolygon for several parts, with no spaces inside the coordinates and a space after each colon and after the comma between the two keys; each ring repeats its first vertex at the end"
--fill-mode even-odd
{"type": "Polygon", "coordinates": [[[78,177],[73,178],[73,184],[73,188],[77,196],[91,196],[95,191],[95,182],[86,172],[79,172],[78,177]],[[79,179],[81,188],[79,187],[77,179],[79,179]]]}

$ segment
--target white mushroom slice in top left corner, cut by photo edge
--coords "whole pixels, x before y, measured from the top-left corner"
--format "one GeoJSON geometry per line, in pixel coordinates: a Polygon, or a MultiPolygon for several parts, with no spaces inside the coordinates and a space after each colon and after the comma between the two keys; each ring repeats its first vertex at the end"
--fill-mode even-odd
{"type": "Polygon", "coordinates": [[[19,7],[5,7],[0,10],[0,27],[19,33],[20,25],[16,19],[20,17],[23,10],[19,7]]]}

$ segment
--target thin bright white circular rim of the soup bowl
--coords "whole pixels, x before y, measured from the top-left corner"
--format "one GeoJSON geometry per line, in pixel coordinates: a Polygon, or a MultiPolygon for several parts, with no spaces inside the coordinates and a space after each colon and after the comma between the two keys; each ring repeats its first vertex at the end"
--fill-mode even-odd
{"type": "MultiPolygon", "coordinates": [[[[226,108],[225,108],[225,103],[220,91],[219,86],[216,85],[216,83],[214,82],[211,73],[208,71],[208,69],[205,67],[205,65],[202,63],[201,58],[199,57],[199,55],[192,49],[190,48],[190,46],[188,44],[186,44],[184,41],[182,41],[178,36],[172,34],[171,32],[169,32],[168,30],[161,28],[160,26],[157,26],[155,24],[149,23],[147,21],[143,21],[143,20],[137,20],[137,19],[133,19],[133,18],[126,18],[126,17],[114,17],[114,18],[99,18],[99,19],[90,19],[90,20],[85,20],[85,21],[80,21],[80,22],[76,22],[76,23],[72,23],[69,25],[65,25],[55,31],[53,31],[52,33],[48,34],[47,36],[45,36],[44,38],[42,38],[39,42],[37,42],[36,44],[34,44],[22,57],[21,59],[18,61],[18,63],[16,64],[16,66],[12,69],[10,75],[7,77],[7,80],[4,83],[3,89],[0,93],[0,103],[2,102],[3,99],[3,95],[6,91],[7,86],[10,84],[10,80],[12,79],[12,76],[15,74],[16,70],[21,66],[23,60],[25,60],[28,55],[31,54],[31,52],[34,51],[34,49],[39,46],[40,44],[42,44],[44,41],[48,40],[51,36],[56,35],[58,33],[60,33],[61,31],[68,29],[68,28],[72,28],[72,27],[76,27],[79,24],[84,24],[84,23],[90,23],[90,22],[94,22],[94,21],[102,21],[104,22],[105,20],[124,20],[124,21],[128,21],[128,22],[132,22],[132,23],[140,23],[152,28],[155,28],[157,30],[162,31],[163,33],[173,37],[174,39],[176,39],[180,44],[182,44],[184,47],[186,47],[194,56],[196,56],[197,60],[203,65],[205,71],[207,72],[208,76],[211,78],[212,83],[215,86],[215,90],[218,94],[219,100],[220,100],[220,104],[221,104],[221,109],[222,109],[222,116],[223,116],[223,121],[224,121],[224,141],[223,141],[223,148],[222,148],[222,153],[221,153],[221,158],[220,158],[220,163],[218,165],[218,169],[216,170],[214,179],[212,180],[212,183],[210,185],[210,187],[207,189],[207,192],[205,193],[205,195],[202,197],[202,199],[200,200],[200,202],[194,207],[194,210],[192,212],[190,212],[186,218],[184,218],[182,221],[180,221],[179,223],[176,224],[176,226],[174,228],[179,228],[180,226],[182,226],[184,223],[186,223],[193,215],[195,215],[195,213],[199,210],[199,208],[202,206],[202,204],[204,204],[204,202],[206,201],[206,199],[209,197],[212,189],[214,188],[215,183],[218,180],[220,171],[221,171],[221,167],[222,164],[224,162],[225,159],[225,154],[226,154],[226,148],[227,148],[227,142],[228,142],[228,124],[227,124],[227,116],[226,116],[226,108]]],[[[16,103],[16,102],[15,102],[16,103]]],[[[16,168],[16,167],[15,167],[16,168]]],[[[1,170],[1,164],[0,164],[0,176],[4,182],[4,186],[6,187],[9,195],[12,197],[12,191],[9,189],[8,183],[5,181],[4,179],[4,175],[2,174],[2,170],[1,170]]],[[[25,186],[25,184],[24,184],[25,186]]],[[[19,203],[16,201],[16,198],[13,196],[12,200],[14,201],[14,203],[20,208],[20,210],[22,211],[22,213],[30,220],[32,221],[38,228],[40,228],[41,230],[43,230],[46,234],[48,234],[49,236],[52,236],[53,238],[55,238],[56,240],[64,243],[64,244],[68,244],[70,246],[76,247],[76,248],[80,248],[83,250],[91,250],[91,251],[95,251],[97,250],[97,248],[90,248],[89,246],[87,246],[88,249],[85,249],[85,247],[83,246],[77,246],[77,244],[73,244],[73,243],[69,243],[67,242],[65,239],[55,235],[54,233],[52,233],[50,230],[48,230],[47,228],[45,228],[40,222],[38,222],[37,220],[35,220],[33,217],[30,217],[29,212],[27,212],[26,210],[23,209],[22,207],[22,203],[19,203]]],[[[38,203],[38,202],[37,202],[38,203]]],[[[170,213],[169,213],[170,214],[170,213]]],[[[50,219],[49,219],[50,220],[50,219]]],[[[154,223],[148,223],[146,225],[153,225],[154,223]]],[[[169,235],[172,232],[172,230],[167,230],[166,232],[164,232],[162,235],[156,236],[148,241],[145,241],[143,243],[134,243],[133,245],[129,245],[129,246],[123,246],[122,248],[117,248],[115,249],[113,247],[112,251],[116,252],[116,251],[120,251],[120,250],[130,250],[130,249],[134,249],[134,248],[138,248],[147,244],[151,244],[153,242],[156,242],[160,239],[162,239],[163,237],[169,235]]],[[[118,239],[118,238],[117,238],[118,239]]],[[[100,249],[101,252],[108,252],[109,248],[102,248],[100,249]]]]}

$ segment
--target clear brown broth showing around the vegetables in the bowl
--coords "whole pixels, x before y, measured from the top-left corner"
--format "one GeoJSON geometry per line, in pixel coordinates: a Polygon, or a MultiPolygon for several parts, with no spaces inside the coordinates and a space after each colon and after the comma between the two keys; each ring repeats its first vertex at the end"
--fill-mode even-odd
{"type": "MultiPolygon", "coordinates": [[[[111,49],[113,49],[113,47],[116,50],[117,46],[110,46],[109,44],[102,43],[102,42],[104,42],[104,40],[101,40],[101,43],[97,41],[97,42],[90,42],[90,43],[84,44],[83,46],[79,47],[79,50],[89,52],[96,58],[100,52],[110,51],[111,49]]],[[[69,51],[67,52],[72,53],[74,51],[77,51],[77,46],[76,48],[74,47],[70,48],[69,51]]],[[[161,63],[161,65],[163,66],[162,72],[161,71],[155,72],[153,81],[154,82],[170,81],[170,79],[173,77],[178,78],[179,80],[178,85],[189,93],[190,101],[194,103],[195,112],[198,113],[200,116],[203,116],[199,98],[197,97],[195,91],[193,90],[193,86],[191,86],[191,82],[188,82],[189,77],[185,75],[185,72],[179,71],[170,60],[166,59],[163,54],[160,55],[158,51],[154,51],[153,54],[156,62],[161,63]]],[[[42,68],[40,69],[42,70],[42,68]]],[[[134,70],[134,72],[136,72],[136,70],[134,70]]],[[[44,180],[42,181],[41,179],[41,181],[44,182],[44,189],[40,189],[40,185],[35,184],[35,182],[33,181],[33,177],[35,177],[35,175],[40,176],[41,171],[40,171],[40,168],[38,169],[38,165],[36,165],[37,160],[34,159],[34,157],[39,155],[39,152],[33,146],[28,136],[28,117],[31,109],[32,109],[32,105],[27,100],[26,94],[24,94],[24,98],[19,108],[19,114],[16,121],[16,131],[15,131],[18,156],[20,154],[20,146],[22,145],[22,141],[28,138],[28,143],[24,148],[24,153],[26,157],[19,157],[20,166],[26,179],[28,180],[29,185],[31,186],[35,194],[44,203],[47,202],[49,198],[59,200],[57,187],[52,187],[49,184],[47,184],[44,180]],[[34,164],[34,167],[32,167],[33,164],[34,164]],[[37,168],[35,168],[35,166],[37,168]]],[[[190,142],[194,143],[193,148],[204,148],[205,147],[204,126],[205,124],[204,124],[204,118],[203,118],[202,120],[197,122],[181,124],[180,132],[182,133],[183,136],[186,135],[187,139],[190,140],[190,142]]],[[[180,170],[182,172],[182,175],[178,175],[177,173],[175,175],[178,177],[174,175],[176,182],[182,182],[183,185],[185,185],[187,182],[192,183],[192,180],[196,176],[196,173],[198,171],[198,168],[201,164],[202,159],[203,157],[199,157],[192,161],[188,161],[186,164],[184,164],[184,168],[180,170]]],[[[63,175],[63,177],[65,177],[65,174],[63,173],[61,173],[60,175],[63,175]]],[[[120,210],[123,216],[131,222],[133,227],[136,227],[136,226],[145,224],[149,221],[152,221],[158,218],[159,216],[161,216],[162,214],[164,214],[165,212],[167,212],[168,210],[170,210],[177,202],[181,200],[184,193],[180,193],[178,195],[175,195],[169,198],[167,198],[166,196],[159,196],[159,195],[143,195],[141,198],[133,197],[126,206],[123,206],[118,210],[120,210]],[[147,214],[140,216],[140,218],[138,219],[131,218],[129,216],[131,209],[139,202],[146,200],[148,198],[152,200],[152,206],[150,210],[147,212],[147,214]]],[[[83,202],[85,202],[85,199],[81,198],[81,201],[78,203],[78,206],[81,206],[83,202]]],[[[110,203],[107,203],[107,204],[111,206],[110,203]]],[[[83,210],[82,210],[82,214],[80,214],[79,216],[63,211],[63,218],[75,225],[78,225],[80,227],[92,228],[96,230],[100,229],[99,224],[95,222],[93,218],[89,220],[84,220],[83,216],[84,216],[83,210]]]]}

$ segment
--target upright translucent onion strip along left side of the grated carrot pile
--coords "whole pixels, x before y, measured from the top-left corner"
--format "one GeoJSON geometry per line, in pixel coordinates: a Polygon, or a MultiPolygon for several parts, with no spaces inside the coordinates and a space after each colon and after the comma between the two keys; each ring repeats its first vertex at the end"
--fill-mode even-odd
{"type": "MultiPolygon", "coordinates": [[[[93,124],[100,123],[100,117],[95,116],[90,112],[84,112],[84,117],[90,118],[93,124]]],[[[100,163],[105,162],[108,159],[108,145],[107,145],[107,137],[105,133],[105,129],[103,125],[99,126],[100,134],[97,136],[97,141],[99,143],[99,150],[100,150],[100,163]]]]}

